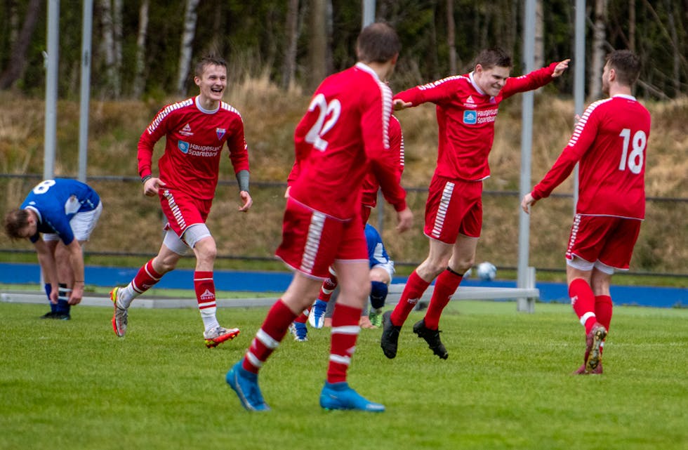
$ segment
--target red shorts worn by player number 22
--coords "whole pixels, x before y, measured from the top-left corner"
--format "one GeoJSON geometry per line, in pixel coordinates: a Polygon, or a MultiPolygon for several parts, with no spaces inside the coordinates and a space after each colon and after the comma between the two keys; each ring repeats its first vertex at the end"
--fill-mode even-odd
{"type": "Polygon", "coordinates": [[[339,220],[288,199],[282,244],[275,255],[308,277],[326,279],[335,260],[368,263],[368,246],[360,216],[339,220]]]}

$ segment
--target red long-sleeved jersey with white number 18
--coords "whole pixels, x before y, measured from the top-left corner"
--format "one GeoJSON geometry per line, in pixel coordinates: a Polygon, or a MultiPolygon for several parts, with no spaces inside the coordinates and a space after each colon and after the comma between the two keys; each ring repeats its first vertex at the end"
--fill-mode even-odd
{"type": "Polygon", "coordinates": [[[650,114],[635,97],[614,95],[594,102],[560,157],[534,187],[533,198],[548,197],[580,161],[576,213],[644,218],[649,135],[650,114]]]}

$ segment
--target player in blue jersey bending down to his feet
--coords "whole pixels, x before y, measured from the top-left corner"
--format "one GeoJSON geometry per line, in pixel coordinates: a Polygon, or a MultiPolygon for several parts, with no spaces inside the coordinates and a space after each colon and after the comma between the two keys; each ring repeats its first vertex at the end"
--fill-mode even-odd
{"type": "Polygon", "coordinates": [[[19,209],[8,211],[5,231],[34,244],[51,310],[42,319],[69,320],[84,296],[84,244],[102,213],[98,193],[77,180],[43,180],[19,209]],[[41,233],[43,239],[41,239],[41,233]]]}

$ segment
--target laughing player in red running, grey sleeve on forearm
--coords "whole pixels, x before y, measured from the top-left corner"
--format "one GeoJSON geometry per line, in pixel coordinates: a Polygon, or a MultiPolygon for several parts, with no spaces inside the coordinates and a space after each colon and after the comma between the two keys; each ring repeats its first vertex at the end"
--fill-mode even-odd
{"type": "Polygon", "coordinates": [[[244,139],[244,121],[234,107],[222,101],[227,87],[227,63],[221,58],[202,58],[194,82],[199,95],[167,105],[145,129],[138,143],[138,173],[143,192],[157,195],[168,223],[160,250],[124,288],[112,289],[112,328],[124,337],[128,307],[134,298],[173,270],[192,249],[196,256],[194,289],[203,319],[203,337],[208,348],[237,336],[239,329],[225,329],[216,318],[213,267],[215,239],[206,227],[220,171],[220,156],[227,143],[229,157],[239,182],[239,197],[246,212],[253,200],[249,194],[249,154],[244,139]],[[165,152],[158,161],[159,178],[151,169],[153,148],[166,138],[165,152]]]}

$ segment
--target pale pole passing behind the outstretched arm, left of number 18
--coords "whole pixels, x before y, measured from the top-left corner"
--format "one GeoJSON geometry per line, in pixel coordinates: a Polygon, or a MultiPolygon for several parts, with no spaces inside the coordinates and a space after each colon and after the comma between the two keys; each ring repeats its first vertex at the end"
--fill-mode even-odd
{"type": "MultiPolygon", "coordinates": [[[[523,62],[525,73],[534,70],[535,65],[535,0],[527,0],[524,11],[523,62]]],[[[533,145],[533,91],[523,94],[521,128],[521,180],[520,199],[530,192],[531,150],[533,145]]],[[[517,287],[526,288],[529,284],[528,260],[530,252],[530,216],[519,208],[518,220],[518,279],[517,287]]],[[[533,312],[532,303],[519,298],[517,310],[533,312]]]]}

